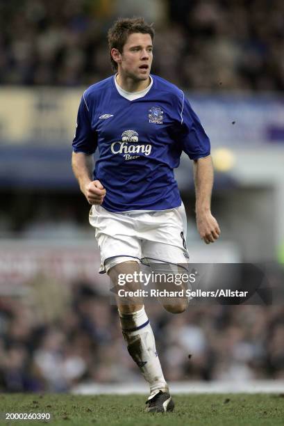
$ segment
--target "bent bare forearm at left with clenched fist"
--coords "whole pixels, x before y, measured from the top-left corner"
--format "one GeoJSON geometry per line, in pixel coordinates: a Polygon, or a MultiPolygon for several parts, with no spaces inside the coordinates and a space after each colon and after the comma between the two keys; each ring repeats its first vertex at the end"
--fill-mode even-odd
{"type": "Polygon", "coordinates": [[[72,169],[79,187],[90,204],[101,204],[106,195],[106,189],[99,180],[92,180],[93,169],[92,155],[83,152],[72,153],[72,169]]]}

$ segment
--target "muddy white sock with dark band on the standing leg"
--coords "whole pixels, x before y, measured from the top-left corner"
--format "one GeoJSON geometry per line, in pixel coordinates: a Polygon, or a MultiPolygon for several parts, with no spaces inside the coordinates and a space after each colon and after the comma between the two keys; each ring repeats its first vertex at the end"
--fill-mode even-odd
{"type": "Polygon", "coordinates": [[[150,392],[167,389],[167,382],[156,352],[155,338],[144,306],[133,313],[119,312],[119,317],[128,352],[148,381],[150,392]]]}

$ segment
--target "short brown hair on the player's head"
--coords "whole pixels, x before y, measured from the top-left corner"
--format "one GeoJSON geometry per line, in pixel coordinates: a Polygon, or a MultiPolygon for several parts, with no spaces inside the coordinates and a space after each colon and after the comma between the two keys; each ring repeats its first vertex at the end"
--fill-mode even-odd
{"type": "MultiPolygon", "coordinates": [[[[110,52],[111,49],[115,48],[122,53],[128,36],[133,33],[149,34],[152,42],[155,35],[153,24],[147,24],[142,17],[119,18],[108,30],[108,47],[110,52]]],[[[112,70],[117,70],[117,63],[112,59],[111,53],[110,61],[112,70]]]]}

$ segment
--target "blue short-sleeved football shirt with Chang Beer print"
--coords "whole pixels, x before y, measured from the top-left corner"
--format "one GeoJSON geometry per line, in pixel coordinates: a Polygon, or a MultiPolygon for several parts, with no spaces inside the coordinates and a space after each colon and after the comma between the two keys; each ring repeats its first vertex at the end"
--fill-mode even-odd
{"type": "Polygon", "coordinates": [[[182,90],[151,74],[149,92],[127,100],[115,76],[93,84],[78,109],[74,152],[99,150],[93,178],[106,188],[110,212],[167,210],[181,205],[174,178],[181,152],[210,155],[210,141],[182,90]]]}

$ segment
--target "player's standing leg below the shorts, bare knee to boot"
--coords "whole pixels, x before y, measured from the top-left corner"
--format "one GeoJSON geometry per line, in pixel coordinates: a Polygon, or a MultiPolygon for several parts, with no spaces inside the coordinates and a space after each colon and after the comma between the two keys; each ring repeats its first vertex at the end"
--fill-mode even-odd
{"type": "MultiPolygon", "coordinates": [[[[112,259],[112,265],[114,262],[115,260],[112,259]]],[[[119,262],[119,258],[117,258],[117,262],[119,262]]],[[[133,276],[135,272],[140,271],[139,264],[135,261],[118,263],[110,267],[110,269],[108,269],[108,262],[106,262],[106,269],[108,276],[110,276],[112,287],[117,286],[120,274],[131,274],[133,276]]],[[[126,291],[139,289],[139,283],[127,283],[124,285],[124,290],[126,291]]],[[[126,299],[125,297],[116,296],[116,299],[122,333],[128,352],[150,386],[151,395],[147,411],[171,411],[174,409],[174,402],[169,395],[167,382],[162,374],[160,360],[156,352],[155,338],[142,298],[128,297],[126,299]]]]}

